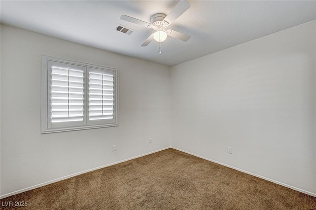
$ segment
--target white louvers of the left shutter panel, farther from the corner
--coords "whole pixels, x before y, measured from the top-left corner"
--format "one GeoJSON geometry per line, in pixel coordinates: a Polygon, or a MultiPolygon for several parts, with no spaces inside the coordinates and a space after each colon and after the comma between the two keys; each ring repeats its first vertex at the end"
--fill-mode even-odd
{"type": "Polygon", "coordinates": [[[51,123],[83,121],[84,72],[51,68],[51,123]]]}

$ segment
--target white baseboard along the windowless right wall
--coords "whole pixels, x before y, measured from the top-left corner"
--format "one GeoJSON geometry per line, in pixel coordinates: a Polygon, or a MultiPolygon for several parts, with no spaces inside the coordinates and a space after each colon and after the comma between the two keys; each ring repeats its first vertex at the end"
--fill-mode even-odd
{"type": "Polygon", "coordinates": [[[284,183],[279,182],[279,181],[276,181],[276,180],[274,180],[274,179],[270,179],[270,178],[267,178],[267,177],[264,177],[264,176],[261,176],[261,175],[258,175],[258,174],[255,174],[255,173],[252,173],[252,172],[249,172],[249,171],[240,169],[240,168],[236,168],[236,167],[233,167],[233,166],[230,166],[230,165],[227,165],[227,164],[223,164],[223,163],[221,163],[221,162],[214,161],[214,160],[212,160],[212,159],[205,158],[205,157],[203,157],[203,156],[196,155],[196,154],[194,154],[194,153],[191,153],[191,152],[188,152],[188,151],[185,151],[185,150],[176,148],[176,147],[172,147],[172,146],[171,146],[170,148],[175,149],[175,150],[179,150],[179,151],[184,152],[184,153],[188,153],[188,154],[190,154],[190,155],[196,156],[196,157],[198,157],[198,158],[201,158],[201,159],[204,159],[204,160],[207,160],[207,161],[210,161],[210,162],[213,162],[213,163],[222,165],[222,166],[226,166],[226,167],[228,167],[228,168],[233,168],[233,169],[235,169],[235,170],[238,170],[238,171],[241,171],[241,172],[250,174],[250,175],[252,175],[252,176],[256,176],[256,177],[265,179],[265,180],[267,180],[267,181],[271,181],[271,182],[276,183],[276,184],[278,184],[278,185],[281,185],[281,186],[283,186],[283,187],[287,187],[287,188],[290,188],[290,189],[292,189],[292,190],[296,190],[296,191],[299,191],[299,192],[301,192],[301,193],[305,193],[305,194],[307,194],[307,195],[316,197],[316,194],[315,194],[315,193],[312,193],[312,192],[309,192],[309,191],[306,191],[306,190],[302,190],[302,189],[300,189],[300,188],[293,187],[293,186],[288,185],[288,184],[284,184],[284,183]]]}

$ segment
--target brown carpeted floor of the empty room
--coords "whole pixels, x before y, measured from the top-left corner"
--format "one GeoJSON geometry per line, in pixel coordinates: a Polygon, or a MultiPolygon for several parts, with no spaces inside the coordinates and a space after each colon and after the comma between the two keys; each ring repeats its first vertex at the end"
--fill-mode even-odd
{"type": "Polygon", "coordinates": [[[167,149],[5,199],[23,210],[316,210],[316,198],[167,149]]]}

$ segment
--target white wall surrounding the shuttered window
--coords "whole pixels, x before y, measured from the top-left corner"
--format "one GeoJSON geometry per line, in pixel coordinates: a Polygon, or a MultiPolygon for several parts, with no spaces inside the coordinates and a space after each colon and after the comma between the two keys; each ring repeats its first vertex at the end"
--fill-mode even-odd
{"type": "Polygon", "coordinates": [[[2,196],[171,144],[167,66],[1,25],[0,84],[2,196]],[[40,134],[42,54],[118,68],[119,126],[40,134]]]}

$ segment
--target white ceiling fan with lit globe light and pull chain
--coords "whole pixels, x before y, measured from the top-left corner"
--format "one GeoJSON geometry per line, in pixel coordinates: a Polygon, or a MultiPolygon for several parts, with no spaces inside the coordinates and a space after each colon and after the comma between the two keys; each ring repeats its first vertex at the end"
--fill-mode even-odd
{"type": "MultiPolygon", "coordinates": [[[[157,42],[159,42],[159,49],[160,49],[160,42],[165,41],[167,39],[167,36],[176,38],[178,40],[182,40],[184,42],[187,42],[190,39],[190,36],[186,34],[182,34],[180,32],[167,29],[167,27],[171,25],[173,21],[175,21],[178,17],[180,17],[189,8],[190,8],[190,4],[186,0],[180,0],[178,4],[169,12],[169,14],[167,15],[163,13],[154,14],[151,17],[151,23],[138,20],[136,18],[133,18],[127,15],[120,16],[120,19],[154,29],[156,32],[151,34],[141,46],[147,46],[150,42],[152,42],[153,40],[156,40],[157,42]]],[[[160,50],[159,50],[159,54],[161,54],[160,50]]]]}

